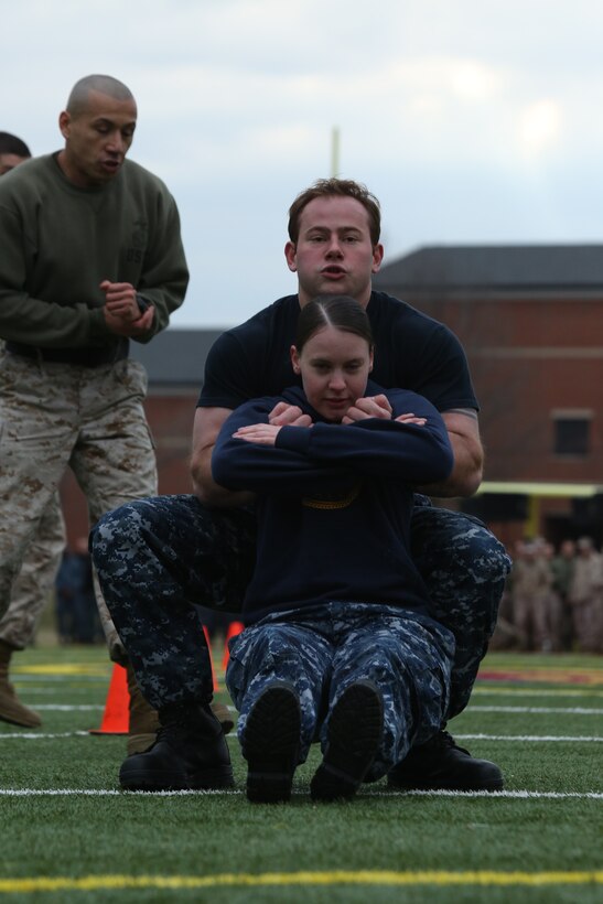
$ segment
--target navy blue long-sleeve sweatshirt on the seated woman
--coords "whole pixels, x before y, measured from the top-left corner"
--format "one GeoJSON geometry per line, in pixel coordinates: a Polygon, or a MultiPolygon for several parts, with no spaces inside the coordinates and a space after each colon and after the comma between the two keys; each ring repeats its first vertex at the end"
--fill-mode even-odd
{"type": "MultiPolygon", "coordinates": [[[[366,395],[384,390],[370,384],[366,395]]],[[[387,390],[392,419],[324,422],[298,387],[254,399],[224,423],[214,480],[258,494],[258,546],[243,616],[329,601],[398,604],[427,612],[427,590],[410,557],[409,525],[417,484],[449,476],[453,454],[441,416],[427,399],[387,390]],[[235,439],[268,423],[277,402],[299,406],[313,426],[282,427],[274,445],[235,439]],[[413,412],[424,426],[394,420],[413,412]]]]}

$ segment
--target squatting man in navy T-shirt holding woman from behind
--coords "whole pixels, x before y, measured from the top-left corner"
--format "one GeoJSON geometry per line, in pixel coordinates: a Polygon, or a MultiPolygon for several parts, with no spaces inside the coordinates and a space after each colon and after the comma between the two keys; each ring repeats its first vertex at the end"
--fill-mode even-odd
{"type": "MultiPolygon", "coordinates": [[[[222,426],[243,402],[279,396],[298,383],[289,358],[300,310],[322,294],[347,294],[366,309],[375,336],[374,377],[414,390],[441,412],[454,452],[446,481],[422,488],[470,496],[482,478],[477,400],[465,354],[448,327],[373,289],[384,248],[379,205],[352,180],[320,180],[293,202],[284,251],[298,292],[223,333],[207,357],[193,428],[195,495],[137,501],[104,516],[91,551],[107,604],[142,691],[163,733],[121,767],[125,788],[218,787],[219,758],[201,712],[212,699],[211,664],[194,603],[240,606],[255,564],[252,494],[219,486],[212,455],[222,426]]],[[[270,422],[294,424],[300,411],[277,406],[270,422]],[[278,409],[278,410],[277,410],[278,409]]],[[[452,718],[466,706],[494,631],[509,568],[485,526],[416,498],[412,555],[431,599],[430,615],[455,636],[452,718]]],[[[288,562],[282,562],[288,568],[288,562]]],[[[472,757],[444,730],[411,750],[391,784],[497,790],[498,766],[472,757]]]]}

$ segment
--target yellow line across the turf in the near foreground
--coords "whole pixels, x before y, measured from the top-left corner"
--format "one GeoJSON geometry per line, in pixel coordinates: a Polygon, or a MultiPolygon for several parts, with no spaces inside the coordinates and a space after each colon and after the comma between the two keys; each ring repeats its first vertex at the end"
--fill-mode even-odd
{"type": "Polygon", "coordinates": [[[0,879],[0,894],[56,891],[97,891],[103,889],[215,889],[259,885],[601,885],[603,870],[582,872],[494,872],[422,870],[396,872],[223,873],[217,875],[86,875],[0,879]]]}

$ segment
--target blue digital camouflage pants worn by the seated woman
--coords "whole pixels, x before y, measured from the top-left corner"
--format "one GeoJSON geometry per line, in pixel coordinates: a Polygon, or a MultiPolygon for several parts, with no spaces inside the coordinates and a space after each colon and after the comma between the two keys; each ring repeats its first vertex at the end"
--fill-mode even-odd
{"type": "Polygon", "coordinates": [[[398,606],[326,603],[269,615],[230,643],[226,684],[239,710],[239,741],[245,747],[258,697],[287,681],[300,702],[298,762],[304,763],[314,741],[325,752],[329,717],[342,693],[369,680],[384,708],[379,749],[365,779],[377,781],[445,721],[453,653],[449,631],[398,606]]]}

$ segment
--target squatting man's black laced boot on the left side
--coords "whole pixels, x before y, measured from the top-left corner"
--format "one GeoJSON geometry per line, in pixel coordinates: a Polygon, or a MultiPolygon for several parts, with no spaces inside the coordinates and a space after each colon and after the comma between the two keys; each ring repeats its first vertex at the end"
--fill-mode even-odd
{"type": "Polygon", "coordinates": [[[119,782],[125,790],[233,786],[228,745],[209,703],[173,703],[159,710],[159,721],[152,747],[121,764],[119,782]]]}

